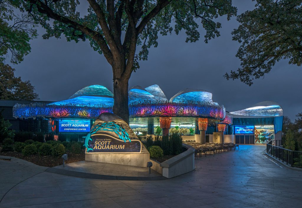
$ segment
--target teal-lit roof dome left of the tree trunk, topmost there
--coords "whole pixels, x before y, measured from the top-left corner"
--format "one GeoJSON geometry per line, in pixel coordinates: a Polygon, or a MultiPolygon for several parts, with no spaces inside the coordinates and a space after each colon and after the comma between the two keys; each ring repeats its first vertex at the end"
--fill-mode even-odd
{"type": "Polygon", "coordinates": [[[108,90],[106,87],[102,85],[90,85],[84,87],[82,90],[77,91],[72,96],[70,96],[69,99],[79,96],[85,96],[85,95],[113,97],[113,93],[110,90],[108,90]]]}

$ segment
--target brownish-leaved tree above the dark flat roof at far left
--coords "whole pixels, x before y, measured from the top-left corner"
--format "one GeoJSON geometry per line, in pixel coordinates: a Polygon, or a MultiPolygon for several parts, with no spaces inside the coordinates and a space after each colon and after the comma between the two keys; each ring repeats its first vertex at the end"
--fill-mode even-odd
{"type": "Polygon", "coordinates": [[[33,100],[38,99],[34,86],[30,81],[22,81],[14,76],[15,69],[0,62],[0,99],[4,100],[33,100]]]}

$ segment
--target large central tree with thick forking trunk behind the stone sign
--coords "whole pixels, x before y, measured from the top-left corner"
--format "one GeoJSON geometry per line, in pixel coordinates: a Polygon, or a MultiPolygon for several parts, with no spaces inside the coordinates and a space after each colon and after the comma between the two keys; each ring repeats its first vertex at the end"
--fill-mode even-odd
{"type": "Polygon", "coordinates": [[[176,34],[184,29],[186,42],[195,42],[200,37],[198,20],[207,42],[219,36],[221,25],[214,18],[236,15],[231,0],[87,0],[88,14],[79,13],[78,0],[19,2],[46,29],[44,38],[64,34],[68,41],[88,39],[95,51],[104,54],[113,71],[113,112],[127,122],[128,80],[139,68],[138,61],[147,59],[148,48],[157,46],[158,34],[171,34],[173,27],[176,34]],[[138,53],[137,45],[141,47],[138,53]]]}

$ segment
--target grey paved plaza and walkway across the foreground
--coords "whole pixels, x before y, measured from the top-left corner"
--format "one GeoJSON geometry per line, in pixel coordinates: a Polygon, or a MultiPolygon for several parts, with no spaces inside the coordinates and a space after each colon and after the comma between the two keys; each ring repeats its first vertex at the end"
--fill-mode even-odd
{"type": "Polygon", "coordinates": [[[265,146],[195,160],[190,173],[160,181],[96,180],[0,160],[0,207],[302,207],[302,172],[262,155],[265,146]]]}

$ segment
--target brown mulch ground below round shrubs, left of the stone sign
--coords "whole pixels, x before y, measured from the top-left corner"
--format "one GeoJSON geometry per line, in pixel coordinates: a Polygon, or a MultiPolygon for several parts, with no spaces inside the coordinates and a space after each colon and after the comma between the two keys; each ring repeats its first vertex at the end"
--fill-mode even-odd
{"type": "MultiPolygon", "coordinates": [[[[68,154],[68,160],[65,161],[66,164],[85,160],[85,150],[82,150],[81,154],[72,154],[67,150],[66,154],[68,154]]],[[[1,152],[0,155],[24,159],[24,160],[32,162],[36,165],[45,166],[45,167],[54,167],[57,165],[63,165],[62,158],[53,157],[51,155],[48,155],[48,156],[30,155],[30,156],[25,157],[21,153],[18,153],[18,152],[1,152]]]]}

